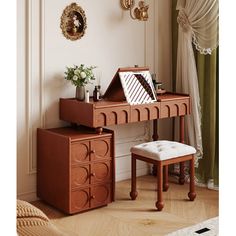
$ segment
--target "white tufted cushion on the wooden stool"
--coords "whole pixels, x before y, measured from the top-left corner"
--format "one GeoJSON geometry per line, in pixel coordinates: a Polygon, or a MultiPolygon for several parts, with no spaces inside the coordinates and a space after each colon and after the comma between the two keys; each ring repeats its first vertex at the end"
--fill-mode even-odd
{"type": "Polygon", "coordinates": [[[196,149],[192,146],[166,140],[138,144],[130,151],[136,155],[159,161],[196,153],[196,149]]]}

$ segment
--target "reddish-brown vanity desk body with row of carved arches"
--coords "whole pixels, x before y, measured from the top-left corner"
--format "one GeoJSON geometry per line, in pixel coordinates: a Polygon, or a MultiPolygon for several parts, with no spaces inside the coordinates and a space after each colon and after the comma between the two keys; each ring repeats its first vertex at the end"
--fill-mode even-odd
{"type": "MultiPolygon", "coordinates": [[[[61,120],[70,123],[102,128],[109,125],[148,120],[154,120],[155,123],[157,119],[176,116],[183,118],[188,114],[190,114],[190,97],[188,95],[166,93],[158,96],[157,102],[142,105],[130,105],[126,101],[101,100],[94,102],[92,99],[89,103],[85,103],[74,98],[61,98],[59,116],[61,120]]],[[[181,121],[181,125],[183,125],[182,123],[183,121],[181,121]]],[[[155,128],[154,134],[156,132],[155,128]]]]}

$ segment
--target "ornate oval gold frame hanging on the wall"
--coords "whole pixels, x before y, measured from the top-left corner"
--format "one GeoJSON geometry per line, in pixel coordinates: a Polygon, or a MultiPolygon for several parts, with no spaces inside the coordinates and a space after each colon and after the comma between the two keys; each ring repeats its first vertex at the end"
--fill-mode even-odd
{"type": "Polygon", "coordinates": [[[77,40],[84,36],[87,28],[84,10],[77,4],[67,6],[61,16],[62,33],[67,39],[77,40]]]}

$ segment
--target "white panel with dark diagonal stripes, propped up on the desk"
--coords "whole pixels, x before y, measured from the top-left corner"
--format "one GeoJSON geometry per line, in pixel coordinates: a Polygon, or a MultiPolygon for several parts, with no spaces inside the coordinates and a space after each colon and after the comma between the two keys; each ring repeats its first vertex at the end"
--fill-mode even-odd
{"type": "Polygon", "coordinates": [[[157,100],[149,71],[119,72],[119,76],[129,104],[152,103],[157,100]]]}

